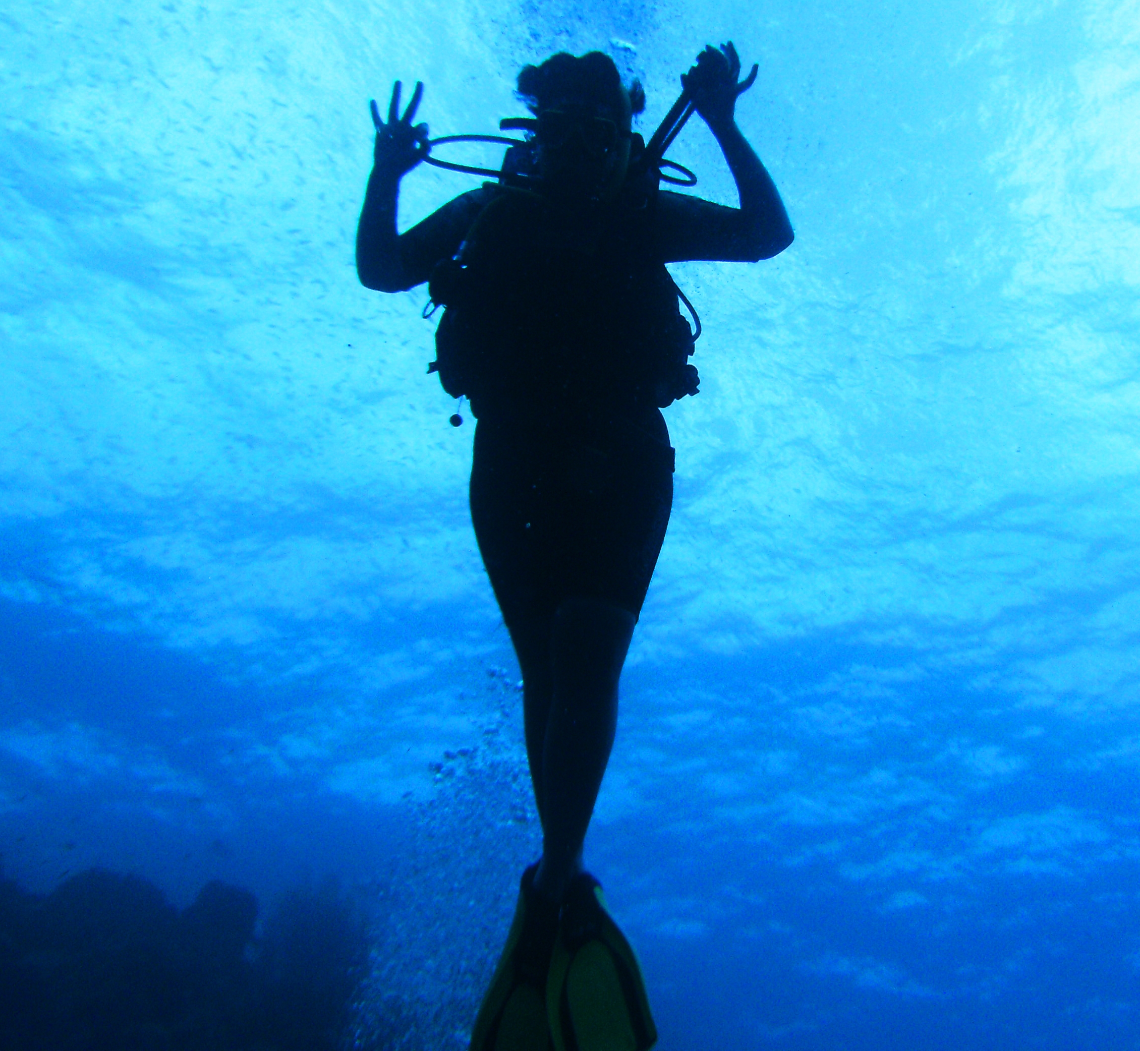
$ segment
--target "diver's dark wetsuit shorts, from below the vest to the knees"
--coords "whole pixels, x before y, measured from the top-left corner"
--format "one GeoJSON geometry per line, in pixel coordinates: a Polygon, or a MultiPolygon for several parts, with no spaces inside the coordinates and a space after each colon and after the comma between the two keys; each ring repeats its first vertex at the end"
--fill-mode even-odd
{"type": "Polygon", "coordinates": [[[641,613],[673,506],[674,450],[657,409],[604,427],[483,416],[471,518],[507,628],[567,598],[641,613]]]}

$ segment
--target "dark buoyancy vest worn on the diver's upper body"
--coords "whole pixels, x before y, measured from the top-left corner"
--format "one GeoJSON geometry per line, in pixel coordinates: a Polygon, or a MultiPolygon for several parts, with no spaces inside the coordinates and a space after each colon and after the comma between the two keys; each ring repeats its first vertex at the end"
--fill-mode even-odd
{"type": "Polygon", "coordinates": [[[692,307],[652,254],[656,194],[584,220],[534,190],[488,186],[495,196],[429,282],[445,308],[429,372],[447,393],[479,416],[520,399],[663,408],[698,392],[679,303],[692,307]]]}

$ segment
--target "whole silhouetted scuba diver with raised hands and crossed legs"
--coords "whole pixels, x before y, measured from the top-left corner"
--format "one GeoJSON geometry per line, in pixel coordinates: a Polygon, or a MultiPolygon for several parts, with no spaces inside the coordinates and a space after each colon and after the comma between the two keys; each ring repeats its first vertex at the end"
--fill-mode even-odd
{"type": "Polygon", "coordinates": [[[518,93],[532,117],[503,124],[528,138],[514,140],[498,181],[404,234],[399,180],[431,146],[427,127],[412,123],[423,84],[401,114],[396,83],[386,122],[372,104],[375,164],[357,270],[381,292],[430,278],[432,299],[448,308],[433,367],[478,417],[471,515],[522,671],[543,826],[473,1051],[644,1051],[656,1041],[637,962],[583,867],[583,845],[673,503],[660,408],[697,392],[693,336],[663,264],[755,262],[792,242],[734,119],[756,67],[742,83],[739,75],[731,43],[707,47],[682,76],[674,124],[646,147],[630,127],[644,92],[622,84],[611,58],[559,54],[527,66],[518,93]],[[658,190],[681,109],[716,137],[739,209],[658,190]]]}

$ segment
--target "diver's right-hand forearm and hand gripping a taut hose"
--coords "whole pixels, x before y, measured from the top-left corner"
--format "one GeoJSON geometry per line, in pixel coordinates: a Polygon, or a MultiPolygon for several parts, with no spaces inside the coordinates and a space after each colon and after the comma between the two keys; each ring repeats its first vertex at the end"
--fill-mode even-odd
{"type": "Polygon", "coordinates": [[[716,136],[736,180],[741,226],[733,237],[732,258],[756,261],[777,255],[792,243],[795,234],[772,177],[736,127],[736,97],[752,85],[756,66],[743,83],[736,82],[739,75],[740,58],[730,42],[719,50],[707,47],[681,80],[697,112],[716,136]]]}

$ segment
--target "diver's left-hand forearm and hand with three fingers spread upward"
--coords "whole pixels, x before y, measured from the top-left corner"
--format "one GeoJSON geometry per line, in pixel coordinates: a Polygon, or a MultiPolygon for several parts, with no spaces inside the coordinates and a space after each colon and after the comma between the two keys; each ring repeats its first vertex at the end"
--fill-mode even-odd
{"type": "Polygon", "coordinates": [[[380,119],[375,100],[372,103],[372,120],[376,125],[375,163],[368,176],[357,226],[357,276],[361,285],[377,292],[402,292],[410,287],[400,259],[396,202],[400,178],[427,155],[427,125],[412,124],[423,90],[423,84],[417,83],[408,108],[400,116],[400,82],[397,81],[386,124],[380,119]]]}

